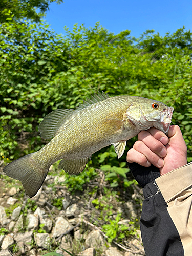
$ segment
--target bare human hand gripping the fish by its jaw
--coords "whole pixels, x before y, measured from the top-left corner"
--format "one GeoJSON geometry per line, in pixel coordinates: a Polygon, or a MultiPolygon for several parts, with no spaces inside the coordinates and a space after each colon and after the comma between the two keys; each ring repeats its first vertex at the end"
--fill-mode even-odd
{"type": "Polygon", "coordinates": [[[186,156],[187,147],[179,126],[170,126],[168,137],[152,127],[138,134],[138,141],[127,152],[127,162],[145,167],[153,164],[163,175],[187,164],[186,156]]]}

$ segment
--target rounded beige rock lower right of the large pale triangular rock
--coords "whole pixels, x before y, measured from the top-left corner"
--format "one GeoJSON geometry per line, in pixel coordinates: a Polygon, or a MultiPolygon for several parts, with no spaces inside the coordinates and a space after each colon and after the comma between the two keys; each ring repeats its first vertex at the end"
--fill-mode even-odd
{"type": "Polygon", "coordinates": [[[92,230],[85,241],[87,247],[100,248],[101,246],[105,250],[105,240],[99,230],[92,230]]]}

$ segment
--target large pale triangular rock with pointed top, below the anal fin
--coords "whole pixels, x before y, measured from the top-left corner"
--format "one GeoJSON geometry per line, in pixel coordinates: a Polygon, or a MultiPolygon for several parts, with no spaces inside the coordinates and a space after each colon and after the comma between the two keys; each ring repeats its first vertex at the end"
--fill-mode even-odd
{"type": "Polygon", "coordinates": [[[62,233],[67,232],[72,225],[65,220],[62,216],[56,218],[55,228],[52,232],[53,238],[59,237],[62,233]]]}

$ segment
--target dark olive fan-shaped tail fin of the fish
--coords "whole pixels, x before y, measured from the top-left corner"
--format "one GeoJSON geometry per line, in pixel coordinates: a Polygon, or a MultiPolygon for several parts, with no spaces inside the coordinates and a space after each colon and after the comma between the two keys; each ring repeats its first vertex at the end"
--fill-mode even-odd
{"type": "Polygon", "coordinates": [[[3,170],[9,177],[20,180],[30,197],[33,197],[40,189],[49,170],[49,168],[42,169],[35,159],[31,158],[33,154],[9,163],[3,170]]]}

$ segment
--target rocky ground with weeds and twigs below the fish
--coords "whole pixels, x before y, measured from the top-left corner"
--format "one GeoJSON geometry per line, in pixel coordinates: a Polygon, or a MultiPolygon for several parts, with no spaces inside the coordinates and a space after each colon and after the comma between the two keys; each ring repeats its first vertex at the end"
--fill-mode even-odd
{"type": "Polygon", "coordinates": [[[112,189],[104,173],[96,172],[83,191],[74,193],[65,176],[50,173],[33,198],[1,172],[0,256],[144,255],[138,222],[141,189],[112,189]]]}

